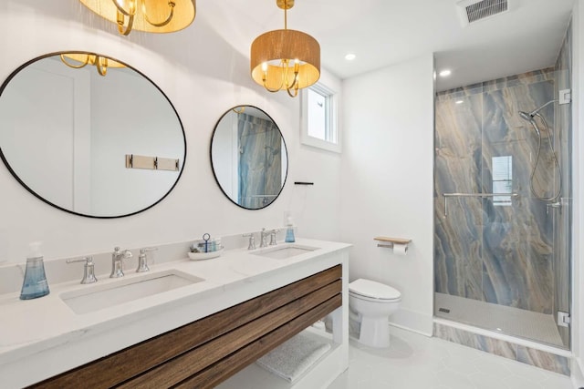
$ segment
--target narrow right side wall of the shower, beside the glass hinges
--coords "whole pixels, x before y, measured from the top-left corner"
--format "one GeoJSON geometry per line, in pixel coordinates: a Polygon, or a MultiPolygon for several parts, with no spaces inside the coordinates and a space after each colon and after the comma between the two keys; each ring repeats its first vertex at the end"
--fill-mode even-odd
{"type": "MultiPolygon", "coordinates": [[[[562,89],[569,89],[571,79],[571,26],[561,46],[558,61],[556,62],[556,96],[562,89]]],[[[556,285],[553,312],[569,312],[569,269],[570,269],[570,241],[571,241],[571,144],[572,134],[571,106],[558,106],[555,128],[555,143],[557,146],[559,166],[561,167],[562,192],[558,200],[560,208],[553,209],[554,220],[554,282],[556,285]]],[[[569,344],[568,327],[558,326],[559,335],[564,345],[569,344]]]]}

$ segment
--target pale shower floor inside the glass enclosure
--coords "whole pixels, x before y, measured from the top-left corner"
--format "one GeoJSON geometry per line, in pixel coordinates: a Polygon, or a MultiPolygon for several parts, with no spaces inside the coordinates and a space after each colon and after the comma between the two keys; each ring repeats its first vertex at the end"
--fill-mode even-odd
{"type": "Polygon", "coordinates": [[[555,318],[551,314],[479,302],[445,293],[434,294],[437,317],[564,347],[555,318]],[[441,308],[450,312],[440,311],[441,308]]]}

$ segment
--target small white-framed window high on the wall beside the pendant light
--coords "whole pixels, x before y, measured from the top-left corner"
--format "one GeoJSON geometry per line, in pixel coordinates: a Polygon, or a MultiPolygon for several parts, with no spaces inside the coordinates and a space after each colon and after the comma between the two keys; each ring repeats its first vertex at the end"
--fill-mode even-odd
{"type": "Polygon", "coordinates": [[[340,152],[337,94],[321,84],[302,92],[303,144],[340,152]]]}

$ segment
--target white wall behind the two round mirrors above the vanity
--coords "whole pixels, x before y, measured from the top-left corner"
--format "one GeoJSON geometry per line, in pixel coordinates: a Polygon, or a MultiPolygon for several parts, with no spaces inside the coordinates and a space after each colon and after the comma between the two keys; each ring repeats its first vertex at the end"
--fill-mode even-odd
{"type": "MultiPolygon", "coordinates": [[[[162,88],[183,121],[187,140],[183,176],[172,193],[151,210],[122,219],[83,218],[52,208],[0,165],[0,261],[24,261],[28,242],[37,240],[45,242],[45,257],[52,259],[111,251],[114,246],[187,241],[204,232],[220,236],[281,227],[287,210],[296,213],[299,236],[339,240],[339,156],[300,146],[299,99],[256,86],[249,76],[249,58],[242,54],[248,53],[252,39],[242,39],[216,9],[200,11],[193,26],[182,32],[124,37],[78,2],[0,2],[0,45],[5,53],[0,80],[27,60],[50,52],[106,54],[141,70],[162,88]],[[241,104],[263,108],[287,140],[287,185],[281,198],[264,210],[243,210],[227,200],[211,170],[214,125],[227,108],[241,104]],[[295,180],[311,180],[315,186],[295,188],[295,180]]],[[[257,35],[266,30],[256,29],[257,35]]]]}

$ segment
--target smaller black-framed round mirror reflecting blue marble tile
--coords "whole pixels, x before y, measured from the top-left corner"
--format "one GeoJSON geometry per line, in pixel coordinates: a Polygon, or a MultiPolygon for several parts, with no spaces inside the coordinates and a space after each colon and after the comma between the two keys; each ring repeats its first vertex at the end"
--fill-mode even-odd
{"type": "Polygon", "coordinates": [[[286,183],[286,143],[274,120],[258,107],[224,113],[211,140],[211,163],[225,196],[247,210],[266,208],[286,183]]]}

